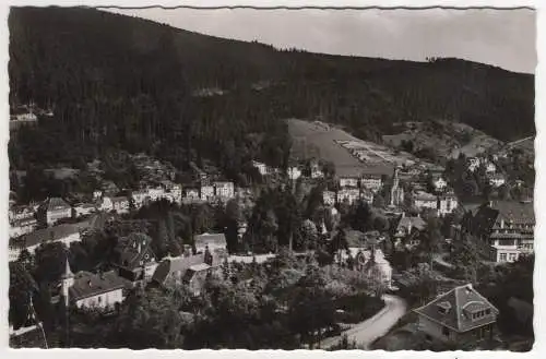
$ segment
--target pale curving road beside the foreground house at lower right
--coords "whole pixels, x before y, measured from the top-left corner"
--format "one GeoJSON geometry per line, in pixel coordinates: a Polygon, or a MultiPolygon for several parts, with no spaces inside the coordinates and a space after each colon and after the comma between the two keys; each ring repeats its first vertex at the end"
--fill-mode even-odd
{"type": "Polygon", "coordinates": [[[342,332],[340,336],[322,340],[321,348],[325,349],[336,345],[342,335],[346,334],[349,343],[356,340],[358,346],[364,346],[365,349],[368,349],[376,339],[385,335],[396,324],[407,309],[406,302],[400,297],[384,295],[383,300],[385,307],[376,315],[342,332]]]}

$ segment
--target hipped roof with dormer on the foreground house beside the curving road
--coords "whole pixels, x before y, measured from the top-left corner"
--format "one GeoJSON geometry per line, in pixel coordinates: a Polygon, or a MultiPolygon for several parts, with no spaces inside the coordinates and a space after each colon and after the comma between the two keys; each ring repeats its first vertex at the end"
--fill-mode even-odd
{"type": "Polygon", "coordinates": [[[464,333],[492,323],[497,320],[497,315],[499,314],[499,310],[478,294],[470,284],[455,287],[414,311],[458,333],[464,333]],[[442,309],[443,312],[440,309],[442,309]],[[472,313],[484,310],[489,310],[489,314],[482,315],[477,319],[472,318],[472,313]]]}

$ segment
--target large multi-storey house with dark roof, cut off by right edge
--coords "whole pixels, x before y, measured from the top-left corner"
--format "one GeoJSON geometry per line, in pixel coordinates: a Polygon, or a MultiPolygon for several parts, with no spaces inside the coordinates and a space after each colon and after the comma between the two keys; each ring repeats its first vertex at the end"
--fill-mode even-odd
{"type": "Polygon", "coordinates": [[[520,255],[534,252],[535,215],[532,202],[486,203],[466,224],[468,226],[466,229],[485,244],[483,254],[492,262],[514,262],[520,255]]]}

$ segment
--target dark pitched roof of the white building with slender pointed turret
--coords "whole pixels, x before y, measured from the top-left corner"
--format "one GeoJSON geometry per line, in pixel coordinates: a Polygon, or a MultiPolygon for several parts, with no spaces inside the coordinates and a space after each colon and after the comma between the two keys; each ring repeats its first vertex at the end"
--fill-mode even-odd
{"type": "Polygon", "coordinates": [[[103,274],[79,272],[74,275],[74,285],[70,287],[69,296],[71,300],[80,300],[127,286],[128,282],[115,271],[103,274]]]}

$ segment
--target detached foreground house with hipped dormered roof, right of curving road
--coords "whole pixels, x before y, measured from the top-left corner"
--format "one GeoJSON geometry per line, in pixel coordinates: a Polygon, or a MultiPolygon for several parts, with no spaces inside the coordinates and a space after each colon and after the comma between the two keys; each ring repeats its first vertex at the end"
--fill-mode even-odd
{"type": "Polygon", "coordinates": [[[418,328],[431,340],[472,344],[491,339],[499,314],[472,285],[456,287],[414,310],[418,328]]]}

